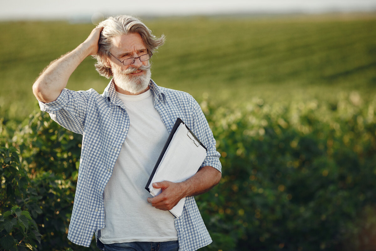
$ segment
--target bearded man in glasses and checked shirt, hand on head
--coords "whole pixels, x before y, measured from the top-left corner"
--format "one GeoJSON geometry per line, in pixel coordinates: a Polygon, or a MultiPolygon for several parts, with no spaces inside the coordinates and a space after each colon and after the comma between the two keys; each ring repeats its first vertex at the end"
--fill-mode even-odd
{"type": "Polygon", "coordinates": [[[83,134],[79,176],[68,239],[102,250],[196,250],[211,243],[193,196],[221,178],[219,153],[205,116],[187,93],[150,79],[149,59],[164,44],[137,18],[109,17],[76,49],[52,62],[33,93],[42,111],[83,134]],[[76,67],[95,55],[100,75],[111,78],[103,94],[66,89],[76,67]],[[144,189],[177,117],[208,148],[199,171],[181,183],[144,189]],[[186,197],[182,216],[168,210],[186,197]],[[180,248],[180,249],[179,249],[180,248]]]}

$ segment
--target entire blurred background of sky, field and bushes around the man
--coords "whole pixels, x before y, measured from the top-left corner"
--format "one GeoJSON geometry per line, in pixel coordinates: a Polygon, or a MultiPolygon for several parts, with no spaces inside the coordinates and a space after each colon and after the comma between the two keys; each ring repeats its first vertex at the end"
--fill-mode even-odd
{"type": "MultiPolygon", "coordinates": [[[[8,1],[0,9],[0,250],[67,240],[81,135],[32,84],[108,15],[166,44],[152,78],[200,103],[223,179],[197,204],[202,250],[376,250],[376,1],[8,1]]],[[[67,88],[109,80],[88,57],[67,88]]]]}

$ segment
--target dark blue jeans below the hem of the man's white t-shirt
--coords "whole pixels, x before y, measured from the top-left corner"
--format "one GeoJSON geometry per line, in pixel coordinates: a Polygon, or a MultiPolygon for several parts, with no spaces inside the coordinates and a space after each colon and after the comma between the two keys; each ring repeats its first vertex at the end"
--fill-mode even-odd
{"type": "Polygon", "coordinates": [[[105,251],[178,251],[179,242],[125,242],[104,244],[105,251]]]}

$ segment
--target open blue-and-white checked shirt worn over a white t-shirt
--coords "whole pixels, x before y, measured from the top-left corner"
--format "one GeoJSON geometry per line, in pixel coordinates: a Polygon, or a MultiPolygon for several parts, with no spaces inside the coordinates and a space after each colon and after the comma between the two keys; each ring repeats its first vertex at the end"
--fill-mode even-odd
{"type": "MultiPolygon", "coordinates": [[[[153,80],[149,87],[155,97],[154,107],[168,131],[180,117],[208,148],[202,166],[221,171],[213,134],[196,100],[188,93],[158,87],[153,80]]],[[[64,89],[57,100],[39,102],[39,106],[61,126],[83,135],[68,239],[89,246],[93,233],[97,236],[97,231],[105,227],[103,191],[127,136],[129,117],[116,95],[113,80],[101,95],[93,89],[64,89]]],[[[182,216],[175,218],[175,227],[180,250],[196,250],[212,241],[193,196],[186,198],[182,216]]],[[[98,239],[97,244],[103,248],[98,239]]]]}

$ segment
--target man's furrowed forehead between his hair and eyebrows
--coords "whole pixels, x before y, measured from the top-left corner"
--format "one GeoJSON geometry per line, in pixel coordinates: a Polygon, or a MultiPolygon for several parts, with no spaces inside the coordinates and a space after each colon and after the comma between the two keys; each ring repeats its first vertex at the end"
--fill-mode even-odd
{"type": "Polygon", "coordinates": [[[112,38],[111,51],[114,53],[134,52],[146,49],[139,33],[129,33],[112,38]]]}

